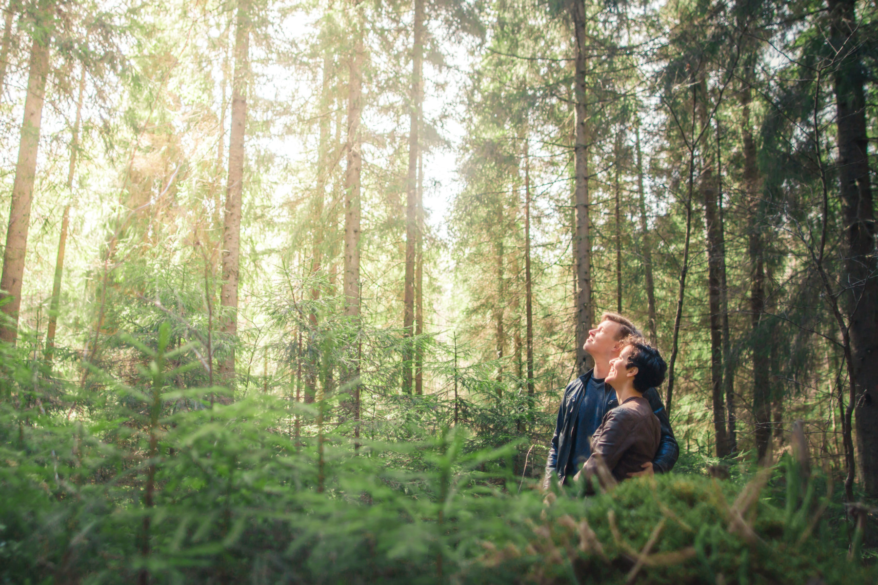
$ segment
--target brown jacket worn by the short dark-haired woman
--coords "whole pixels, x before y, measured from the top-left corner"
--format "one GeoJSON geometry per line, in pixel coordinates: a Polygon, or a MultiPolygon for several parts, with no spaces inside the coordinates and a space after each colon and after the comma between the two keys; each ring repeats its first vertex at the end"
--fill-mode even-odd
{"type": "MultiPolygon", "coordinates": [[[[582,467],[587,485],[604,465],[621,482],[631,472],[643,471],[643,465],[659,450],[661,429],[659,418],[653,414],[649,401],[632,396],[603,417],[603,422],[592,437],[592,455],[582,467]]],[[[603,483],[601,481],[601,483],[603,483]]]]}

